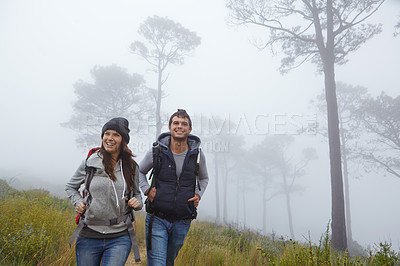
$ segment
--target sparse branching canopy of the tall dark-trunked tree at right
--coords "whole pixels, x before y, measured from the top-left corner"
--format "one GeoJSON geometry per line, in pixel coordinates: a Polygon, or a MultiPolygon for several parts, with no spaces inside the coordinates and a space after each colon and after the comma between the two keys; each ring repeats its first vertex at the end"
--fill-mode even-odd
{"type": "Polygon", "coordinates": [[[281,49],[285,57],[281,72],[306,61],[316,63],[322,70],[321,51],[332,38],[334,60],[346,63],[346,56],[361,44],[381,32],[381,25],[365,24],[384,0],[333,1],[329,10],[326,0],[228,0],[232,22],[254,24],[269,29],[269,40],[260,48],[281,49]],[[330,23],[329,12],[332,12],[330,23]],[[332,35],[328,27],[332,27],[332,35]]]}

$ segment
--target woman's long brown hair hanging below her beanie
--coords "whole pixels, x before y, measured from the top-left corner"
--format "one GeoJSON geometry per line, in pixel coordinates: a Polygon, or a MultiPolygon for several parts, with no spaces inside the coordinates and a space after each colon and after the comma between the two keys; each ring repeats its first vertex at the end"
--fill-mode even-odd
{"type": "MultiPolygon", "coordinates": [[[[106,170],[106,173],[108,174],[110,179],[115,182],[117,178],[114,175],[113,165],[115,166],[115,164],[112,163],[111,154],[108,151],[106,151],[103,144],[101,144],[100,151],[103,156],[104,169],[106,170]]],[[[135,186],[135,173],[136,173],[136,167],[138,167],[135,160],[133,160],[133,157],[134,155],[132,154],[132,151],[128,148],[126,141],[122,139],[120,151],[118,154],[118,160],[119,159],[122,160],[122,170],[124,171],[125,181],[129,189],[132,189],[135,186]]]]}

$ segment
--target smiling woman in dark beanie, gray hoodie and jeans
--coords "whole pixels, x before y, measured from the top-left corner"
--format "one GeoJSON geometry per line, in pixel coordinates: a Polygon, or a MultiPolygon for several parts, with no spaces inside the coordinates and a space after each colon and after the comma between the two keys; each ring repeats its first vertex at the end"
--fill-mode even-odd
{"type": "MultiPolygon", "coordinates": [[[[142,208],[142,197],[138,188],[138,165],[127,146],[129,131],[125,118],[108,121],[101,131],[101,148],[79,166],[65,187],[76,212],[82,215],[75,230],[79,234],[75,247],[78,266],[124,265],[132,241],[136,244],[132,208],[142,208]],[[83,198],[79,188],[85,183],[88,167],[95,172],[89,193],[83,198]]],[[[135,257],[140,260],[136,252],[135,257]]]]}

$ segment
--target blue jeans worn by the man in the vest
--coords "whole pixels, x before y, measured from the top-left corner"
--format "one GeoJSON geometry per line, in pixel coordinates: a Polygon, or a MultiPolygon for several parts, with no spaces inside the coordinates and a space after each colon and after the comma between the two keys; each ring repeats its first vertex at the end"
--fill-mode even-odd
{"type": "MultiPolygon", "coordinates": [[[[146,242],[151,214],[146,216],[146,242]]],[[[191,219],[173,223],[154,216],[151,250],[147,250],[147,265],[174,265],[175,258],[189,232],[191,219]]]]}

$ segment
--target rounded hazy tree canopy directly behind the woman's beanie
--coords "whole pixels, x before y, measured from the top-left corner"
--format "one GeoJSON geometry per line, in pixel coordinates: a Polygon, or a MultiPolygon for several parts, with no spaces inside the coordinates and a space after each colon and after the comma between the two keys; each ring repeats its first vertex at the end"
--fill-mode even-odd
{"type": "Polygon", "coordinates": [[[83,149],[99,144],[101,127],[110,118],[122,116],[132,123],[151,110],[141,75],[129,74],[117,65],[95,66],[91,75],[92,83],[80,80],[74,84],[74,114],[62,124],[79,133],[77,144],[83,149]]]}

